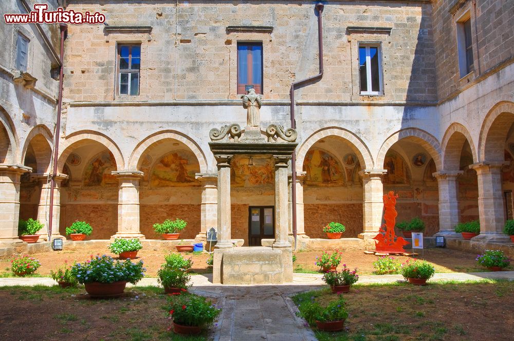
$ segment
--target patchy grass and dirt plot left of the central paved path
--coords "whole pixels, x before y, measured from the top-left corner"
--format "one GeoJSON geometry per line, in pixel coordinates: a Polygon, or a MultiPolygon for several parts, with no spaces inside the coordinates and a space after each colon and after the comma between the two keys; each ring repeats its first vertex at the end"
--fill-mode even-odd
{"type": "Polygon", "coordinates": [[[0,287],[3,340],[203,341],[168,331],[167,295],[162,288],[127,288],[113,299],[90,299],[83,288],[0,287]]]}

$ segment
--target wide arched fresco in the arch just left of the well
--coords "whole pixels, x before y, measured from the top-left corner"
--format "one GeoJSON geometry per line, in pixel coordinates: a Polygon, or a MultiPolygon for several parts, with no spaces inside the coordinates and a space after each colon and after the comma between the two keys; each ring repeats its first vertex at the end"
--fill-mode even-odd
{"type": "Polygon", "coordinates": [[[200,165],[192,151],[176,150],[161,158],[150,171],[151,187],[199,186],[200,165]]]}

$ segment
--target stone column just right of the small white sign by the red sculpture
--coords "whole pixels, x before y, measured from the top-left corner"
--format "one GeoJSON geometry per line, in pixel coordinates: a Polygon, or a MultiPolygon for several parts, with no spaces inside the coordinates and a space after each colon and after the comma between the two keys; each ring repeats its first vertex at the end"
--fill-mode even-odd
{"type": "Polygon", "coordinates": [[[462,171],[441,171],[432,175],[439,186],[439,232],[436,236],[460,237],[455,233],[455,225],[460,217],[458,210],[457,176],[462,171]]]}

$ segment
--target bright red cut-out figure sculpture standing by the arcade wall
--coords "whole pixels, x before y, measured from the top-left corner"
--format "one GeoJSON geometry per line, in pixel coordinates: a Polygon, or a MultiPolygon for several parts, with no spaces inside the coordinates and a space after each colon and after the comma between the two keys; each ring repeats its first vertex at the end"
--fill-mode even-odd
{"type": "Polygon", "coordinates": [[[396,237],[394,234],[394,225],[396,224],[396,216],[398,215],[395,210],[396,198],[393,191],[388,194],[384,194],[384,220],[386,223],[380,227],[380,232],[375,236],[376,244],[375,250],[380,253],[404,253],[403,245],[407,245],[408,242],[402,237],[396,237]],[[383,228],[386,230],[383,230],[383,228]],[[382,234],[384,233],[384,234],[382,234]]]}

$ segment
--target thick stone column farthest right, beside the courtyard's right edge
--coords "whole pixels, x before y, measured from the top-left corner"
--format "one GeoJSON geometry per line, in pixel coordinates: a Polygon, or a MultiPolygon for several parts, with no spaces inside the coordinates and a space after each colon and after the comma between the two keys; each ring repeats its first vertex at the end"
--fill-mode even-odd
{"type": "Polygon", "coordinates": [[[508,242],[503,234],[505,207],[500,169],[504,162],[481,162],[469,165],[476,171],[479,184],[480,235],[473,240],[508,242]]]}

